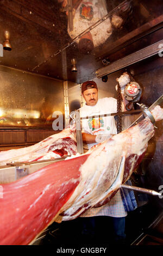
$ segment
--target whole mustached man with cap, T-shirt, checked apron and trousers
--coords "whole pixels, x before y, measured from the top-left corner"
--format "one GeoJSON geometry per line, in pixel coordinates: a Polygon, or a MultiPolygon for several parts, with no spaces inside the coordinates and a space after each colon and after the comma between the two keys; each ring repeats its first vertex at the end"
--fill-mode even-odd
{"type": "MultiPolygon", "coordinates": [[[[126,82],[128,83],[129,81],[127,80],[126,82]]],[[[119,84],[122,86],[122,89],[124,89],[124,83],[119,84]]],[[[117,100],[113,97],[98,99],[98,88],[94,81],[86,81],[82,84],[82,95],[86,104],[79,109],[80,117],[99,115],[99,118],[82,120],[83,142],[86,143],[88,149],[90,149],[93,145],[100,143],[117,133],[113,116],[100,117],[102,114],[117,112],[117,100]]],[[[99,208],[89,209],[80,217],[92,216],[110,216],[112,224],[114,225],[115,240],[125,240],[126,234],[124,233],[124,229],[127,211],[124,209],[120,190],[118,190],[109,203],[99,208]]],[[[84,219],[83,223],[86,229],[88,225],[95,227],[94,218],[84,219]]]]}

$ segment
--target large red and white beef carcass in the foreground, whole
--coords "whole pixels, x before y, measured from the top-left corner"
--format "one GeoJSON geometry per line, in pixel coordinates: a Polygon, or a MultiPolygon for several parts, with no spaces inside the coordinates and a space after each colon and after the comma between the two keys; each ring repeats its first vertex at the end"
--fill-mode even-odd
{"type": "MultiPolygon", "coordinates": [[[[163,109],[157,106],[153,115],[156,121],[163,119],[163,109]]],[[[72,220],[104,204],[142,160],[153,135],[153,124],[144,119],[87,154],[2,184],[0,244],[28,244],[53,221],[72,220]],[[121,159],[124,168],[118,172],[121,159]]]]}

